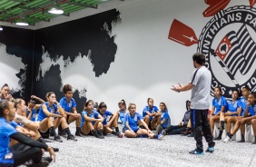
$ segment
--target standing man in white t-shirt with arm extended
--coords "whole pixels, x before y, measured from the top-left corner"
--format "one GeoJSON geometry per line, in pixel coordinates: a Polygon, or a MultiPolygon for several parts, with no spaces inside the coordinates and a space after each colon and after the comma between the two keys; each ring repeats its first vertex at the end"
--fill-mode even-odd
{"type": "Polygon", "coordinates": [[[196,68],[192,74],[192,80],[187,85],[173,86],[171,89],[177,93],[189,91],[192,89],[191,99],[191,121],[194,139],[196,141],[196,149],[191,151],[192,154],[203,154],[202,148],[202,133],[208,142],[208,149],[206,152],[214,152],[213,136],[210,125],[207,121],[209,103],[209,94],[211,91],[212,74],[204,66],[205,56],[203,54],[192,55],[193,65],[196,68]]]}

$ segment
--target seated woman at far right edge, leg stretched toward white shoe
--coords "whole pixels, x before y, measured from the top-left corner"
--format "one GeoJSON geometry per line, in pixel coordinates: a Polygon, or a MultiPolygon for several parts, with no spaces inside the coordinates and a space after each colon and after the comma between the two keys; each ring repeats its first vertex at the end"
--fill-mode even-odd
{"type": "MultiPolygon", "coordinates": [[[[244,90],[242,89],[242,91],[244,90]]],[[[234,129],[232,130],[231,133],[227,135],[227,137],[223,140],[223,142],[230,142],[231,137],[239,130],[240,127],[241,127],[241,141],[239,142],[245,142],[244,140],[245,124],[251,124],[251,121],[256,118],[256,116],[254,116],[255,109],[256,109],[255,102],[256,102],[256,93],[249,93],[246,101],[244,101],[244,99],[241,98],[241,103],[240,103],[241,113],[239,114],[241,116],[238,116],[234,129]],[[245,103],[246,105],[244,106],[245,103]],[[243,128],[244,128],[244,131],[242,131],[243,128]]]]}

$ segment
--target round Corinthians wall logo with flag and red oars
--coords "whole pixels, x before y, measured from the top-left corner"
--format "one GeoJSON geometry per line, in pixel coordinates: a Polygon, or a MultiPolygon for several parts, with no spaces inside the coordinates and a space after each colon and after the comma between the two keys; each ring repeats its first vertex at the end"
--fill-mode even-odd
{"type": "MultiPolygon", "coordinates": [[[[204,16],[213,16],[197,39],[191,27],[173,20],[169,39],[186,46],[198,44],[197,52],[205,54],[206,67],[212,72],[212,91],[222,87],[223,96],[248,85],[256,92],[256,9],[236,5],[227,9],[230,0],[211,1],[204,16]],[[214,12],[215,11],[215,12],[214,12]]],[[[207,3],[207,1],[206,1],[207,3]]]]}

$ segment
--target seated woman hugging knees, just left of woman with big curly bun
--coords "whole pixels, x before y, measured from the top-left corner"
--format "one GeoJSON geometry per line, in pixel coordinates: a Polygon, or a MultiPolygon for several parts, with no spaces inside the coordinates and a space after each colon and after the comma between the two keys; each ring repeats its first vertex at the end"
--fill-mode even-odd
{"type": "Polygon", "coordinates": [[[40,133],[45,133],[49,130],[50,136],[54,137],[54,141],[63,142],[55,129],[62,124],[64,132],[67,133],[67,140],[77,141],[74,135],[70,133],[68,124],[64,119],[64,109],[56,101],[54,92],[46,93],[47,102],[43,103],[38,113],[38,122],[40,133]]]}

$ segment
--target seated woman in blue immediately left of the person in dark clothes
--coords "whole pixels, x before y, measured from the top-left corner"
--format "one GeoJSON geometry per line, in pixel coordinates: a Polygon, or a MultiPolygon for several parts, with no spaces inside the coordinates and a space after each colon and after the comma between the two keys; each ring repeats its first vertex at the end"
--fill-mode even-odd
{"type": "MultiPolygon", "coordinates": [[[[159,108],[160,108],[161,116],[158,118],[157,122],[155,123],[155,125],[157,125],[156,131],[155,131],[156,134],[161,133],[162,130],[166,128],[168,120],[170,119],[165,103],[160,103],[159,108]]],[[[154,126],[154,123],[152,124],[154,126]]]]}

